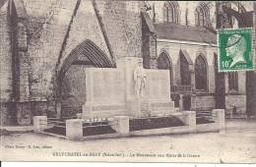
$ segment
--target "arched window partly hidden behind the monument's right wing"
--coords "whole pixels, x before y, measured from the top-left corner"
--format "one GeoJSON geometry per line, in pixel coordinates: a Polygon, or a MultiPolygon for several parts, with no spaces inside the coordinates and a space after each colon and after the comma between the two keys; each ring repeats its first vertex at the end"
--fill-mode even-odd
{"type": "Polygon", "coordinates": [[[172,63],[165,52],[162,52],[158,58],[158,69],[169,70],[170,84],[172,84],[172,63]]]}

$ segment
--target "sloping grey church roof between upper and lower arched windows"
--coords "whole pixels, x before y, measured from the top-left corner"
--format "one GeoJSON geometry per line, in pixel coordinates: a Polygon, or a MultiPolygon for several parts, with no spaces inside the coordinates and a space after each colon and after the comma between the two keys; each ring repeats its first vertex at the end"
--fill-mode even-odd
{"type": "Polygon", "coordinates": [[[206,28],[187,27],[178,24],[154,24],[158,38],[217,43],[217,35],[206,28]]]}

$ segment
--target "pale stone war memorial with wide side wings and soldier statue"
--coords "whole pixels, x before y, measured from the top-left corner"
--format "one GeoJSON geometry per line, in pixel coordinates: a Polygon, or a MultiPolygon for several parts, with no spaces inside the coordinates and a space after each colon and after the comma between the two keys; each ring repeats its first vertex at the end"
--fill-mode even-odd
{"type": "Polygon", "coordinates": [[[117,60],[116,69],[88,68],[82,118],[147,117],[175,112],[169,71],[137,68],[141,63],[142,58],[124,57],[117,60]],[[140,71],[142,74],[136,73],[140,71]],[[143,83],[136,85],[141,80],[143,83]]]}

